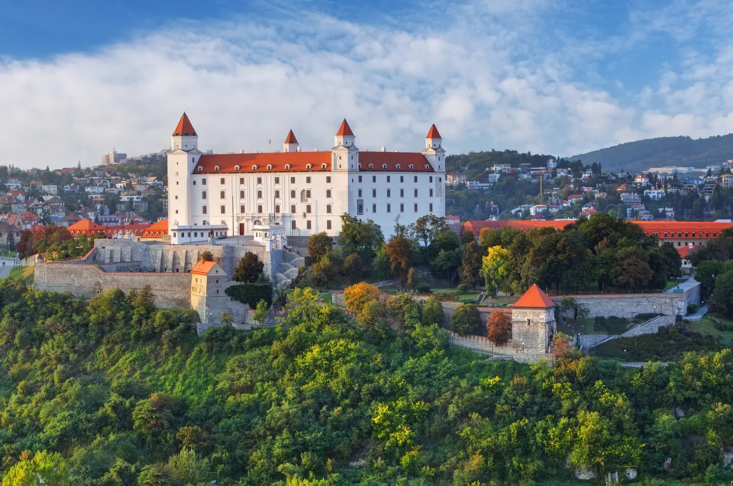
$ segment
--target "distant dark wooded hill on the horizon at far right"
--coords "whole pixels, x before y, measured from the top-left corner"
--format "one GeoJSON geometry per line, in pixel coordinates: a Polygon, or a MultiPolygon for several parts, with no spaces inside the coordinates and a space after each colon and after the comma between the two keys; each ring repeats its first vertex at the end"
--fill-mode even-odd
{"type": "Polygon", "coordinates": [[[733,133],[697,140],[688,136],[667,136],[630,141],[573,155],[570,160],[575,161],[578,158],[583,164],[596,162],[603,169],[626,169],[628,172],[657,166],[704,167],[733,158],[733,133]]]}

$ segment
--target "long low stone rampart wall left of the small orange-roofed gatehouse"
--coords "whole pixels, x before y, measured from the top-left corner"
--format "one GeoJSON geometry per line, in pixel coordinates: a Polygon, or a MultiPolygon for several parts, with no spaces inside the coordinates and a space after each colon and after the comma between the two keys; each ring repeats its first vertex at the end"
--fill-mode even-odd
{"type": "MultiPolygon", "coordinates": [[[[132,262],[135,265],[134,262],[132,262]]],[[[70,292],[77,297],[92,298],[111,288],[127,293],[150,286],[155,305],[188,309],[191,290],[189,273],[113,273],[96,265],[69,262],[38,263],[34,287],[46,292],[70,292]]]]}

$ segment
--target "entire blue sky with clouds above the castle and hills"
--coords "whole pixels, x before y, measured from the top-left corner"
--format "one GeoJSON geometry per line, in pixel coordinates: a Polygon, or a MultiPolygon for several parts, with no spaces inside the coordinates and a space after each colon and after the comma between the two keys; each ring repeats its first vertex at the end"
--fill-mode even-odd
{"type": "Polygon", "coordinates": [[[729,0],[0,0],[0,147],[21,168],[113,147],[575,155],[733,132],[729,0]],[[270,143],[271,141],[271,143],[270,143]]]}

